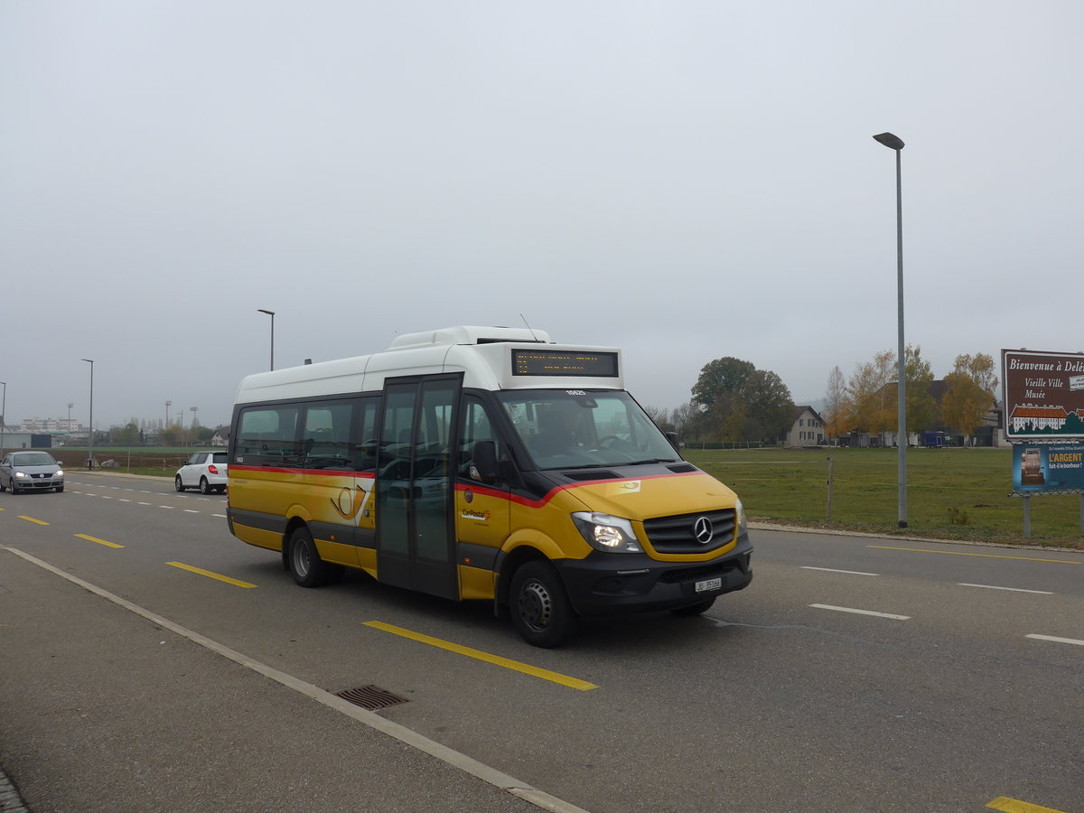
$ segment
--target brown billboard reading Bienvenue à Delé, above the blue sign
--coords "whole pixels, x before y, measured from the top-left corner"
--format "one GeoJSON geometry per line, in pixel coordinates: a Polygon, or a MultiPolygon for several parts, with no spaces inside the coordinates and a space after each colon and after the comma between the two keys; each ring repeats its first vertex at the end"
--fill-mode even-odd
{"type": "Polygon", "coordinates": [[[1084,353],[1002,350],[1005,437],[1084,437],[1084,353]]]}

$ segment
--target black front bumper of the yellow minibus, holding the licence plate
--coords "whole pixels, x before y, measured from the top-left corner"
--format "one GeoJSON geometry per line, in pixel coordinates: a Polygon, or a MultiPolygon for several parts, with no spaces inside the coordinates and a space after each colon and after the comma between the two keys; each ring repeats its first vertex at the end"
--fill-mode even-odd
{"type": "Polygon", "coordinates": [[[568,597],[581,616],[612,616],[680,609],[752,581],[749,534],[711,562],[659,562],[647,554],[594,553],[584,559],[557,559],[568,597]]]}

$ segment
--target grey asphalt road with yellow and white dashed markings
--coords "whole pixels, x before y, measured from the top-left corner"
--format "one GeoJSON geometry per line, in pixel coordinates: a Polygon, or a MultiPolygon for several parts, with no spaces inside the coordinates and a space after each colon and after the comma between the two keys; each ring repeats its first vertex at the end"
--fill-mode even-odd
{"type": "Polygon", "coordinates": [[[757,529],[706,616],[541,650],[483,604],[297,588],[170,481],[0,508],[0,765],[35,811],[539,809],[502,783],[595,813],[1084,811],[1081,553],[757,529]],[[421,749],[305,694],[366,685],[421,749]]]}

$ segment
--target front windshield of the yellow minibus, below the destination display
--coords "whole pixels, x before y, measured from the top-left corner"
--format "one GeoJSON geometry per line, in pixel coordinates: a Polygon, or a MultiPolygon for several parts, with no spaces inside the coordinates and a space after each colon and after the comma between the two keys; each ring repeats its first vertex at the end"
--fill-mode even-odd
{"type": "Polygon", "coordinates": [[[498,398],[541,469],[681,460],[623,390],[504,390],[498,398]]]}

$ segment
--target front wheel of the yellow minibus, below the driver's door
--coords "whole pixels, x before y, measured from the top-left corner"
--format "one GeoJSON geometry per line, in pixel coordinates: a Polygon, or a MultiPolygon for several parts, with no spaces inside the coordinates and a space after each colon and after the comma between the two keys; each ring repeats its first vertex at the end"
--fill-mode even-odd
{"type": "Polygon", "coordinates": [[[512,575],[509,588],[512,623],[528,644],[552,649],[576,634],[576,610],[560,577],[547,562],[524,563],[512,575]]]}

